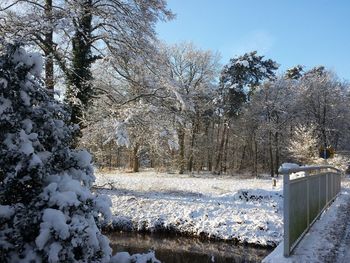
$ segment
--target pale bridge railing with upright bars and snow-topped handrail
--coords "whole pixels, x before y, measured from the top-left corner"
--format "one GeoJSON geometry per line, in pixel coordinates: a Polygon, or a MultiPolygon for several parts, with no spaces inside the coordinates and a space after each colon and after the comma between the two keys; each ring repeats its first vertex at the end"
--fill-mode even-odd
{"type": "Polygon", "coordinates": [[[281,168],[279,172],[283,174],[284,256],[287,257],[339,193],[341,171],[323,165],[281,168]]]}

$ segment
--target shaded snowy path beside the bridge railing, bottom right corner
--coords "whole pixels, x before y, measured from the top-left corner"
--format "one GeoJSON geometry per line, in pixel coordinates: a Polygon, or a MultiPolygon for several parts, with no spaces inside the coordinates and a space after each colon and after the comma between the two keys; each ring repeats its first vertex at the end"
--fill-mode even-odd
{"type": "Polygon", "coordinates": [[[288,258],[283,257],[283,242],[263,260],[265,263],[349,262],[350,258],[350,180],[334,203],[316,221],[288,258]]]}

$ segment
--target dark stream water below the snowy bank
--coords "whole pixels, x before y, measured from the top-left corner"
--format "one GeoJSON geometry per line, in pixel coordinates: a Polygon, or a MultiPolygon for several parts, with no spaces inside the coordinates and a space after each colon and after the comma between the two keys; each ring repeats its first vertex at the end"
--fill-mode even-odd
{"type": "Polygon", "coordinates": [[[261,262],[271,252],[271,249],[168,234],[113,232],[107,236],[113,253],[145,253],[152,249],[163,263],[261,262]]]}

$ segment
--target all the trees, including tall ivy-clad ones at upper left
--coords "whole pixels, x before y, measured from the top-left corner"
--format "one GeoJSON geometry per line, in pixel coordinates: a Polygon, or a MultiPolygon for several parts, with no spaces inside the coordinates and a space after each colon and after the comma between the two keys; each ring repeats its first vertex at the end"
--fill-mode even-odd
{"type": "Polygon", "coordinates": [[[279,65],[157,40],[174,17],[156,1],[8,1],[0,34],[39,49],[45,85],[64,88],[75,146],[101,168],[278,174],[282,162],[346,151],[348,83],[323,66],[279,65]],[[18,10],[22,12],[18,12],[18,10]]]}

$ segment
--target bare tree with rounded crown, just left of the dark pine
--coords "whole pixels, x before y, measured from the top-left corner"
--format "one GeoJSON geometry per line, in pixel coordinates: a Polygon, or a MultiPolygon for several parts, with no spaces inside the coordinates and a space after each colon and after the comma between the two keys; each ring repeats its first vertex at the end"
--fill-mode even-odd
{"type": "Polygon", "coordinates": [[[185,171],[186,135],[188,134],[189,172],[193,169],[194,148],[202,117],[212,108],[212,95],[215,92],[215,77],[218,73],[218,54],[202,51],[191,43],[181,43],[168,48],[168,61],[171,78],[177,83],[177,92],[185,101],[186,107],[178,109],[181,116],[177,121],[179,140],[179,173],[185,171]]]}

